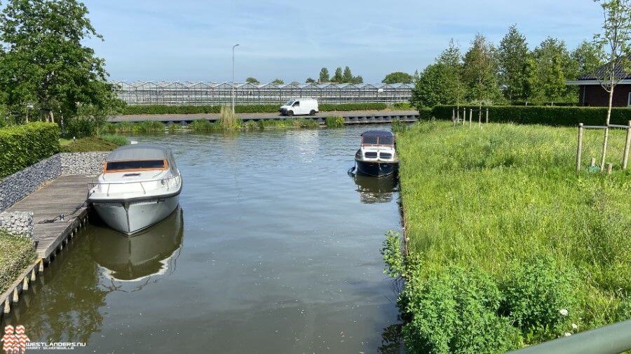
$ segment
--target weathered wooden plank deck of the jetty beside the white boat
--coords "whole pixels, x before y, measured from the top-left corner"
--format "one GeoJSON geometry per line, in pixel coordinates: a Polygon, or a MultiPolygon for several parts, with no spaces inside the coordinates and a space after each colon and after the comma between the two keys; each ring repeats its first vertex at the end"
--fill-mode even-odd
{"type": "Polygon", "coordinates": [[[88,210],[83,203],[88,194],[88,182],[93,177],[60,176],[7,209],[33,212],[33,239],[37,257],[47,259],[79,225],[79,221],[86,217],[88,210]],[[64,220],[42,223],[61,214],[66,215],[64,220]]]}

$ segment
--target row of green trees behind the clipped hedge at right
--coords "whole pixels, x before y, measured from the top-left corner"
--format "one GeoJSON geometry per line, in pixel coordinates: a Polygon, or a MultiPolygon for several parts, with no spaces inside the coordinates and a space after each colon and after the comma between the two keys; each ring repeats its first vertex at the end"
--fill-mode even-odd
{"type": "Polygon", "coordinates": [[[604,64],[604,57],[602,46],[593,41],[583,41],[570,51],[564,41],[553,37],[531,50],[515,25],[497,46],[477,34],[464,55],[452,39],[419,74],[412,103],[419,107],[576,103],[578,89],[566,85],[566,80],[594,73],[604,64]]]}

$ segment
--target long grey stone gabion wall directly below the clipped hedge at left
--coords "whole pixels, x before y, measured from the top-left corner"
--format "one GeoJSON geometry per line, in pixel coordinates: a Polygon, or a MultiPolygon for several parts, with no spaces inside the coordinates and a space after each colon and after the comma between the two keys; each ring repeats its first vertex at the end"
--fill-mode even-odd
{"type": "Polygon", "coordinates": [[[34,192],[43,183],[59,177],[61,158],[59,154],[41,160],[22,171],[0,180],[0,211],[34,192]]]}

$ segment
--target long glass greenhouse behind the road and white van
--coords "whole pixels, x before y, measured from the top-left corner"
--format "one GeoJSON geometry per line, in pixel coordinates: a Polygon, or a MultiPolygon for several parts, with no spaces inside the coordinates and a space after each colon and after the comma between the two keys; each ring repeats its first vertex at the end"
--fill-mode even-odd
{"type": "Polygon", "coordinates": [[[229,104],[234,92],[235,104],[281,104],[289,99],[308,97],[320,103],[409,101],[413,84],[335,84],[335,83],[191,83],[191,82],[118,82],[119,97],[127,104],[214,105],[229,104]]]}

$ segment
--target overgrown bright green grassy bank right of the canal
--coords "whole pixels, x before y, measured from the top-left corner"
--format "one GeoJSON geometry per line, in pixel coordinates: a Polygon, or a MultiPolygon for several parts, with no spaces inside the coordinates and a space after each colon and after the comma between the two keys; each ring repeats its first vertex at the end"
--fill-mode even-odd
{"type": "MultiPolygon", "coordinates": [[[[602,132],[585,136],[599,157],[602,132]]],[[[414,351],[506,351],[631,318],[631,171],[574,172],[576,128],[452,127],[398,134],[409,257],[403,334],[414,351]]],[[[585,162],[586,163],[586,162],[585,162]]]]}

